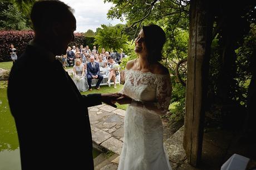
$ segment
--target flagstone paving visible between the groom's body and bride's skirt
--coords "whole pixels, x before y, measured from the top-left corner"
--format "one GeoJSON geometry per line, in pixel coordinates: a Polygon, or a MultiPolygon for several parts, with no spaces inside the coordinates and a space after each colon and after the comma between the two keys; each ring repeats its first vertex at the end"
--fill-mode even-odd
{"type": "Polygon", "coordinates": [[[92,141],[117,154],[121,153],[124,136],[124,113],[106,104],[89,107],[92,141]],[[119,140],[121,138],[121,141],[119,140]]]}

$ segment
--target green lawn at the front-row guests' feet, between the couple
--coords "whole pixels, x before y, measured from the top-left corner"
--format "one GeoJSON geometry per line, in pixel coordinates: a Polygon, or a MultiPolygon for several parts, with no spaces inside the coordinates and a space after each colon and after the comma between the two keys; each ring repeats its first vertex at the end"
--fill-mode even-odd
{"type": "MultiPolygon", "coordinates": [[[[116,88],[114,88],[112,84],[111,84],[111,87],[105,85],[105,86],[100,86],[100,91],[98,91],[97,89],[92,87],[92,89],[93,89],[92,91],[81,92],[81,94],[117,93],[117,92],[120,92],[123,87],[124,87],[123,84],[121,84],[120,86],[119,86],[119,84],[116,84],[116,88]]],[[[128,104],[120,105],[120,104],[116,103],[116,106],[117,106],[117,108],[126,110],[128,104]]]]}

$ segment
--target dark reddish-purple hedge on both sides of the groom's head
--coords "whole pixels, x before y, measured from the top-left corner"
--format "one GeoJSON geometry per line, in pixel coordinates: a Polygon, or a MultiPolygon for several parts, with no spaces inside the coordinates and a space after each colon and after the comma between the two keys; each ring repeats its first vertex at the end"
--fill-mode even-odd
{"type": "MultiPolygon", "coordinates": [[[[31,31],[0,31],[0,62],[11,61],[9,48],[11,44],[17,49],[17,56],[21,56],[29,41],[34,37],[34,32],[31,31]]],[[[85,37],[83,33],[75,33],[75,41],[68,44],[68,46],[75,45],[84,47],[88,45],[92,48],[94,37],[85,37]]]]}

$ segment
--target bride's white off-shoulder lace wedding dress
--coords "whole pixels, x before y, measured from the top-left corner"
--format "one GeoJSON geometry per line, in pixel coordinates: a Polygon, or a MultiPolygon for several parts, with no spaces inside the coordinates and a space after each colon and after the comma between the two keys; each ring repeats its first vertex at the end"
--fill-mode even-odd
{"type": "Polygon", "coordinates": [[[126,110],[124,146],[118,169],[171,169],[163,146],[160,118],[170,104],[170,76],[126,69],[121,93],[135,101],[126,110]]]}

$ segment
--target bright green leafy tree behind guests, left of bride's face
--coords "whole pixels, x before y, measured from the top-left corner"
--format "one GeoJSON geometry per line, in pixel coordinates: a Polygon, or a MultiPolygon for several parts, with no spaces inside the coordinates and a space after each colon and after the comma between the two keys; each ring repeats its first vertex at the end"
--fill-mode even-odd
{"type": "Polygon", "coordinates": [[[124,51],[127,49],[127,35],[122,34],[122,26],[106,26],[105,24],[101,25],[102,29],[98,29],[99,32],[95,36],[95,44],[101,48],[105,48],[106,51],[111,49],[118,51],[120,48],[123,48],[124,51]]]}

